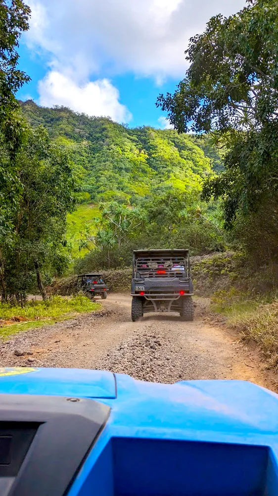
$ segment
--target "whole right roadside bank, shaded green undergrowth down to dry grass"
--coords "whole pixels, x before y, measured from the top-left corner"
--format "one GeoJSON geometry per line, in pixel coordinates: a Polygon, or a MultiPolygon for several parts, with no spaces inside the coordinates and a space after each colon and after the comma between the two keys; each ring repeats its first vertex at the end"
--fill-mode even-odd
{"type": "Polygon", "coordinates": [[[254,272],[244,253],[227,251],[193,260],[192,274],[198,293],[210,297],[210,310],[224,315],[242,340],[256,343],[278,372],[278,291],[270,267],[254,272]]]}

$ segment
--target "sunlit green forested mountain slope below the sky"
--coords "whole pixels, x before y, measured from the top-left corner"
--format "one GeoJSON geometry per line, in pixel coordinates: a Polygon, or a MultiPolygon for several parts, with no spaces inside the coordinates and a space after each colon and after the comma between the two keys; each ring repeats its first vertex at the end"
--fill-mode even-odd
{"type": "Polygon", "coordinates": [[[43,124],[51,138],[71,151],[82,201],[139,204],[173,188],[200,191],[203,179],[222,169],[221,157],[207,137],[148,126],[130,129],[65,107],[20,103],[32,126],[43,124]]]}

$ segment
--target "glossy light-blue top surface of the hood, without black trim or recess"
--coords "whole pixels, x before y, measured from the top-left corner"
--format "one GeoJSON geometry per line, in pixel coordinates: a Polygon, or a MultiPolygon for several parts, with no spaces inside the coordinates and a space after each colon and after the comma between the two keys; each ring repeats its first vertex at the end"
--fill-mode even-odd
{"type": "Polygon", "coordinates": [[[278,395],[240,380],[158,384],[107,371],[5,368],[1,393],[101,399],[125,428],[278,432],[278,395]]]}

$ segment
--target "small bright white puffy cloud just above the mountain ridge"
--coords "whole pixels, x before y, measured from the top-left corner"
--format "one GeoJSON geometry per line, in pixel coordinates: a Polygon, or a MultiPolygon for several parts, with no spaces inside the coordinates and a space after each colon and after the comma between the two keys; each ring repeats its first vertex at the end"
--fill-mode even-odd
{"type": "Polygon", "coordinates": [[[69,76],[52,70],[39,82],[39,104],[45,107],[64,105],[89,116],[111,117],[114,121],[129,122],[132,115],[119,103],[119,92],[108,79],[78,85],[69,76]]]}

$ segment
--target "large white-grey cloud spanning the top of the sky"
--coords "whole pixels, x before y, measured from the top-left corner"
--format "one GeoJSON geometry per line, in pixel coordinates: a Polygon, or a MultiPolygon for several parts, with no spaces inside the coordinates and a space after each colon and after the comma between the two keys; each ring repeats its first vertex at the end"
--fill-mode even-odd
{"type": "Polygon", "coordinates": [[[134,71],[162,79],[185,72],[190,36],[209,18],[242,8],[245,0],[31,0],[35,50],[75,77],[134,71]]]}

